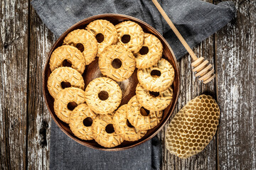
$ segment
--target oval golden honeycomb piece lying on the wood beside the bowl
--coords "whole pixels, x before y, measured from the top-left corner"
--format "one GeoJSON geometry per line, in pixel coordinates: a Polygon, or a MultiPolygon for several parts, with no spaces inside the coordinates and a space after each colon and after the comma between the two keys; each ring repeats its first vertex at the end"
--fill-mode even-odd
{"type": "Polygon", "coordinates": [[[212,140],[220,108],[208,95],[197,96],[179,111],[167,129],[166,148],[180,158],[201,152],[212,140]]]}

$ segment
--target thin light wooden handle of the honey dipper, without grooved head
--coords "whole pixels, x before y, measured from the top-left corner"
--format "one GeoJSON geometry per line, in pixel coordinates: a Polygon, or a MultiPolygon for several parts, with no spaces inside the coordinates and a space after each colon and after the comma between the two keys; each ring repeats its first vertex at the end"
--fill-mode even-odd
{"type": "Polygon", "coordinates": [[[182,37],[181,33],[178,32],[177,28],[174,26],[174,23],[171,22],[171,19],[166,15],[166,13],[164,12],[164,9],[161,8],[161,6],[158,3],[158,1],[157,0],[152,0],[152,1],[153,1],[154,5],[156,6],[156,8],[161,13],[161,15],[164,17],[165,21],[171,27],[171,30],[174,31],[175,35],[178,37],[178,40],[180,40],[182,45],[186,48],[186,50],[188,51],[189,55],[191,55],[191,57],[193,58],[194,61],[197,60],[198,57],[196,57],[196,55],[193,52],[193,50],[191,49],[191,47],[188,46],[188,43],[186,42],[186,40],[184,40],[184,38],[182,37]]]}

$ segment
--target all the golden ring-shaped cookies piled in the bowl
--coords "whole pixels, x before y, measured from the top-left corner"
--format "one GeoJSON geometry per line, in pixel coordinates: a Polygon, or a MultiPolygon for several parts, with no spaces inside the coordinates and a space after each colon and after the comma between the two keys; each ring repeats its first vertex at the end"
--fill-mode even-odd
{"type": "Polygon", "coordinates": [[[50,56],[48,91],[55,99],[55,115],[75,136],[102,147],[141,139],[159,124],[172,101],[174,68],[162,52],[161,41],[132,21],[114,26],[96,20],[73,30],[50,56]],[[82,74],[95,57],[104,77],[85,87],[82,74]],[[117,81],[129,79],[136,68],[136,95],[120,106],[117,81]]]}

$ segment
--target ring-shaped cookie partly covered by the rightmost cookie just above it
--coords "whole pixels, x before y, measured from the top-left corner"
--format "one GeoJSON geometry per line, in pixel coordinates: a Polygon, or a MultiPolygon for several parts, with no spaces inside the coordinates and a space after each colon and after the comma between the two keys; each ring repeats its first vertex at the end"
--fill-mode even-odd
{"type": "Polygon", "coordinates": [[[136,96],[139,103],[148,110],[162,111],[171,103],[173,90],[171,86],[165,91],[151,93],[140,84],[136,88],[136,96]]]}

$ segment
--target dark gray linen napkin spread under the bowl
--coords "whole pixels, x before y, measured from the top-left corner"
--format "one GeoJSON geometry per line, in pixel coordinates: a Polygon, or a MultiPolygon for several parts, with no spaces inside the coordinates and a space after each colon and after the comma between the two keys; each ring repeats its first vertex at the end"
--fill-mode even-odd
{"type": "MultiPolygon", "coordinates": [[[[149,23],[174,50],[177,59],[185,48],[149,0],[33,0],[43,23],[58,37],[78,21],[101,13],[122,13],[149,23]]],[[[235,5],[225,1],[213,5],[200,0],[159,1],[188,45],[202,40],[225,26],[235,16],[235,5]]],[[[154,137],[143,145],[121,152],[104,152],[79,145],[55,123],[50,130],[50,169],[160,169],[161,143],[154,137]]]]}

